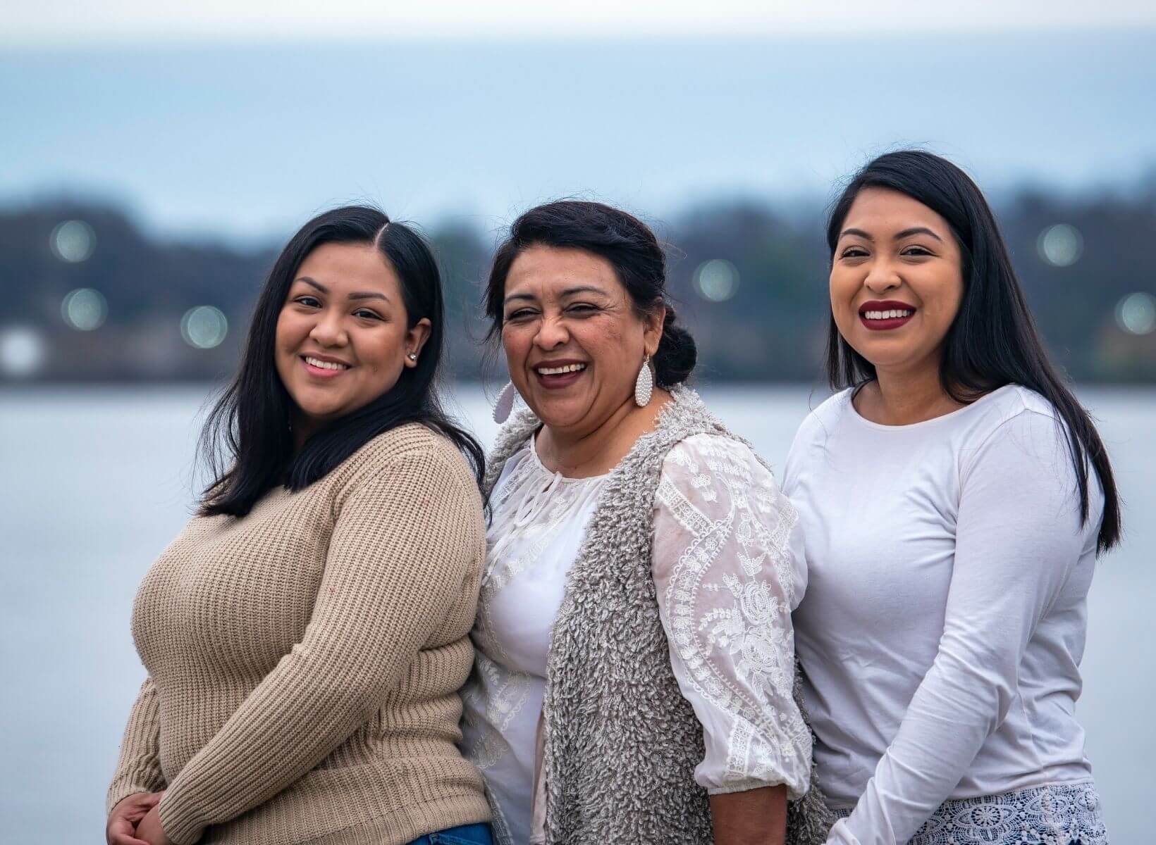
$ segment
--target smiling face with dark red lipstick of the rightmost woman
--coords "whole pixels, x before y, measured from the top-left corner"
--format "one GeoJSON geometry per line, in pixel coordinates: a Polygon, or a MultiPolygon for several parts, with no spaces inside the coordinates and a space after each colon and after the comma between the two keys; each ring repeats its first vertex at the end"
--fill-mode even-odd
{"type": "Polygon", "coordinates": [[[959,247],[922,203],[864,188],[843,222],[830,292],[843,339],[877,371],[938,368],[963,298],[959,247]]]}

